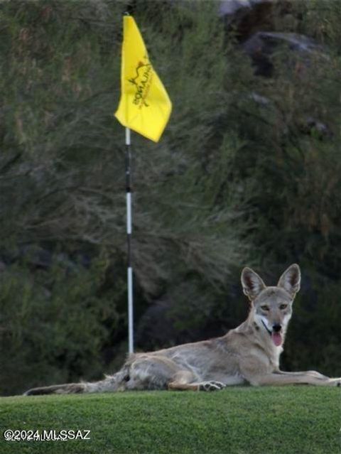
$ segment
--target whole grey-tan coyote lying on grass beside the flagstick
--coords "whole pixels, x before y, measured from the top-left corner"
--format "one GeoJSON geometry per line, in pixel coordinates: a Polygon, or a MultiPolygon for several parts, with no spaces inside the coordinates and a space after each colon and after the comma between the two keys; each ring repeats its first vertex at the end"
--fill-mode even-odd
{"type": "Polygon", "coordinates": [[[273,287],[266,287],[258,274],[244,268],[242,288],[251,301],[249,316],[226,335],[156,352],[132,354],[119,372],[100,382],[57,384],[29,389],[25,394],[132,389],[214,391],[233,384],[340,387],[340,378],[325,377],[315,371],[282,372],[279,369],[279,356],[300,282],[301,272],[296,264],[289,266],[273,287]]]}

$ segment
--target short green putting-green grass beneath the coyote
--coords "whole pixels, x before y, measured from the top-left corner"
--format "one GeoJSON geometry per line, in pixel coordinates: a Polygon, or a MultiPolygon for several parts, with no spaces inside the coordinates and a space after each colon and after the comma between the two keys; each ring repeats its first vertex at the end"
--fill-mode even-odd
{"type": "Polygon", "coordinates": [[[231,387],[0,399],[0,453],[339,454],[340,389],[231,387]],[[13,430],[90,430],[91,440],[4,441],[13,430]]]}

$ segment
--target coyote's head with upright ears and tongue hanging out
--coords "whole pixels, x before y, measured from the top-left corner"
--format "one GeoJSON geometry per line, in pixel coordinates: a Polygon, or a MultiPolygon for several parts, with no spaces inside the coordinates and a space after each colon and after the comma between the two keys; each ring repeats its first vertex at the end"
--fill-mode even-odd
{"type": "Polygon", "coordinates": [[[242,286],[251,301],[251,316],[259,330],[271,336],[274,345],[283,343],[291,319],[293,299],[300,290],[301,272],[296,264],[284,271],[276,287],[266,287],[250,268],[242,271],[242,286]]]}

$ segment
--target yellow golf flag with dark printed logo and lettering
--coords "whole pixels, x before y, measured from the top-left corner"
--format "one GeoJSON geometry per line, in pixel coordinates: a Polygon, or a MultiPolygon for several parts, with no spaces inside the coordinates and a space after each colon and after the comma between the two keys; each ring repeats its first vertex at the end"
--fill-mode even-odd
{"type": "Polygon", "coordinates": [[[132,16],[124,16],[121,99],[115,117],[147,139],[158,142],[172,103],[158,78],[132,16]]]}

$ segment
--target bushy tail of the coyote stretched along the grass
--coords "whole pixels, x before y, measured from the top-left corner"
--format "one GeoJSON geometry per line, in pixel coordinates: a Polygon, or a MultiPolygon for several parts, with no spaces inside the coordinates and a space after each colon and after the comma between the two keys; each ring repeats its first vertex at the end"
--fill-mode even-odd
{"type": "Polygon", "coordinates": [[[80,382],[53,384],[50,387],[38,387],[28,389],[24,396],[38,396],[39,394],[78,394],[92,392],[121,391],[124,389],[125,372],[123,370],[114,375],[107,375],[99,382],[80,382]]]}

